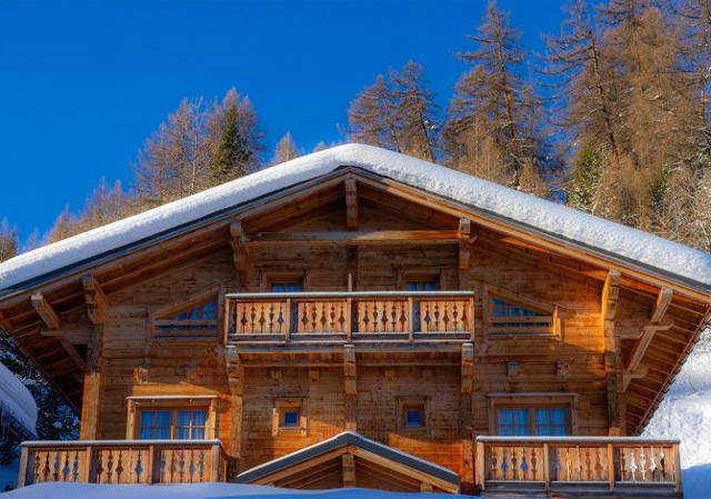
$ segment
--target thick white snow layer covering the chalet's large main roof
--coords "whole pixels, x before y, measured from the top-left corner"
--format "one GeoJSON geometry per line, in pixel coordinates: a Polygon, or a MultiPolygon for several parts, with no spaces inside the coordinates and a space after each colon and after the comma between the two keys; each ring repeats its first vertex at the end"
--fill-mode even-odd
{"type": "Polygon", "coordinates": [[[194,196],[22,253],[0,265],[0,293],[261,196],[359,167],[583,247],[711,288],[711,255],[384,149],[344,144],[268,168],[194,196]]]}

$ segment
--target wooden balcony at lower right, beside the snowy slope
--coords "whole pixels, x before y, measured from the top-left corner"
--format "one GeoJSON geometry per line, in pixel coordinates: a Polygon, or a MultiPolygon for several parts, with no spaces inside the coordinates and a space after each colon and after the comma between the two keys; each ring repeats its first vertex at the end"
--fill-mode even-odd
{"type": "Polygon", "coordinates": [[[679,440],[478,437],[482,496],[681,497],[679,440]]]}

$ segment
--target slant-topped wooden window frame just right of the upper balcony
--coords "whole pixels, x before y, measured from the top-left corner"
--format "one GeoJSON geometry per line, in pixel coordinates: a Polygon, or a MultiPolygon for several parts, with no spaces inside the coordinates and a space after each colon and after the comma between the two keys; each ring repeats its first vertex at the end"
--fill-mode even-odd
{"type": "Polygon", "coordinates": [[[482,310],[482,319],[485,325],[487,336],[492,338],[557,338],[562,339],[562,319],[560,307],[557,303],[548,303],[539,300],[534,300],[529,297],[523,297],[521,295],[515,295],[510,291],[505,291],[500,288],[485,288],[485,295],[483,297],[483,310],[482,310]],[[543,316],[520,316],[519,317],[495,317],[493,315],[493,300],[500,299],[507,302],[510,302],[514,306],[520,306],[521,308],[530,309],[535,312],[544,313],[543,316]],[[519,322],[548,322],[545,327],[494,327],[494,325],[502,325],[507,322],[512,322],[511,319],[520,319],[519,322]]]}

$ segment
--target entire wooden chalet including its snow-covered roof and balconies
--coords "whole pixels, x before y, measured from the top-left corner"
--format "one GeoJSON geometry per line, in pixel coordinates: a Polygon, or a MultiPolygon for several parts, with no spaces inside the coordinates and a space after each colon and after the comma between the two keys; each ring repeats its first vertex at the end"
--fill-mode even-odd
{"type": "Polygon", "coordinates": [[[638,436],[709,269],[402,154],[299,158],[0,265],[0,325],[81,415],[19,486],[681,497],[679,442],[638,436]]]}

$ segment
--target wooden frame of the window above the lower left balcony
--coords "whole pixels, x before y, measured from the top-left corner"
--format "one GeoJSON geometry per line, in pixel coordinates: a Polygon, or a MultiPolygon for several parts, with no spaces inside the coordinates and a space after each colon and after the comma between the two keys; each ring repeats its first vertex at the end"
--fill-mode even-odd
{"type": "Polygon", "coordinates": [[[213,440],[217,432],[217,413],[218,397],[217,396],[147,396],[147,397],[127,397],[127,425],[126,439],[138,440],[140,436],[142,410],[169,410],[170,416],[170,439],[176,439],[177,413],[180,410],[206,410],[207,419],[204,423],[204,440],[213,440]]]}

